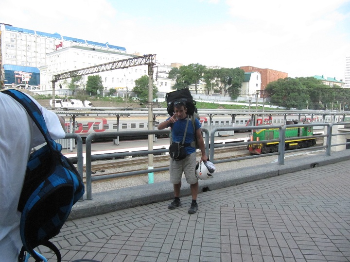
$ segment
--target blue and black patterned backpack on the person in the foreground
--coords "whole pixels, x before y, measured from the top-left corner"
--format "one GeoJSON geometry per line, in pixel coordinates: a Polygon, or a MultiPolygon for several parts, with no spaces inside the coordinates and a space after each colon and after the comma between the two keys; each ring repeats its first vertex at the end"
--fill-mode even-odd
{"type": "Polygon", "coordinates": [[[46,140],[45,146],[30,155],[18,202],[23,243],[18,261],[29,258],[28,254],[25,258],[25,252],[35,261],[43,261],[34,251],[35,247],[43,245],[51,248],[60,262],[61,254],[49,239],[60,232],[72,206],[84,195],[84,183],[74,165],[61,154],[62,146],[51,138],[34,101],[18,90],[2,93],[16,99],[27,110],[46,140]]]}

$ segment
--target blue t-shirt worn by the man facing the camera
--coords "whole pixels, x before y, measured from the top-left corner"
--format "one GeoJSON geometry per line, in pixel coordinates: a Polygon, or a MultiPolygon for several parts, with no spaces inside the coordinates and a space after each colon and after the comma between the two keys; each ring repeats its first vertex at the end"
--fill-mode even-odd
{"type": "MultiPolygon", "coordinates": [[[[169,117],[170,118],[170,117],[169,117]]],[[[169,119],[168,118],[168,119],[169,119]]],[[[167,119],[167,120],[168,120],[167,119]]],[[[202,127],[201,123],[197,118],[194,118],[195,120],[195,129],[198,130],[199,128],[202,127]]],[[[191,142],[194,141],[194,133],[195,131],[193,130],[193,124],[192,124],[192,119],[191,117],[189,118],[189,124],[187,127],[187,132],[186,132],[186,138],[185,138],[185,144],[190,144],[191,142]]],[[[186,129],[186,123],[187,123],[187,117],[184,119],[179,119],[177,120],[172,127],[172,139],[173,142],[182,142],[184,132],[186,129]]],[[[195,147],[185,147],[186,154],[192,154],[195,152],[195,147]]]]}

